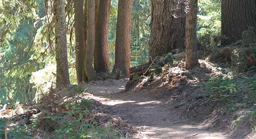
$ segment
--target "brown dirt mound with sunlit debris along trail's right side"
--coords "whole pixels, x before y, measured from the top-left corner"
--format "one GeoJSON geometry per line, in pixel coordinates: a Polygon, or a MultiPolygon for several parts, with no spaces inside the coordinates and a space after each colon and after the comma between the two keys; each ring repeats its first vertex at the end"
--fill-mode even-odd
{"type": "MultiPolygon", "coordinates": [[[[252,116],[250,112],[245,112],[250,109],[244,109],[243,112],[239,112],[241,109],[230,111],[229,107],[225,105],[229,102],[217,101],[216,96],[210,96],[200,87],[210,77],[226,74],[226,70],[208,61],[200,60],[199,62],[200,65],[191,71],[186,71],[183,67],[171,67],[165,70],[167,72],[158,76],[133,77],[127,83],[126,89],[128,92],[147,92],[144,95],[155,97],[158,100],[168,98],[167,103],[172,102],[171,107],[183,110],[177,119],[188,118],[193,125],[207,127],[212,131],[221,131],[229,138],[255,138],[255,132],[252,131],[253,125],[256,125],[255,116],[252,116]],[[232,127],[231,124],[241,115],[246,116],[236,121],[237,125],[232,127]]],[[[237,94],[243,98],[242,96],[247,92],[247,90],[243,90],[237,94]]],[[[241,100],[234,100],[234,102],[236,101],[240,103],[241,100]]]]}

